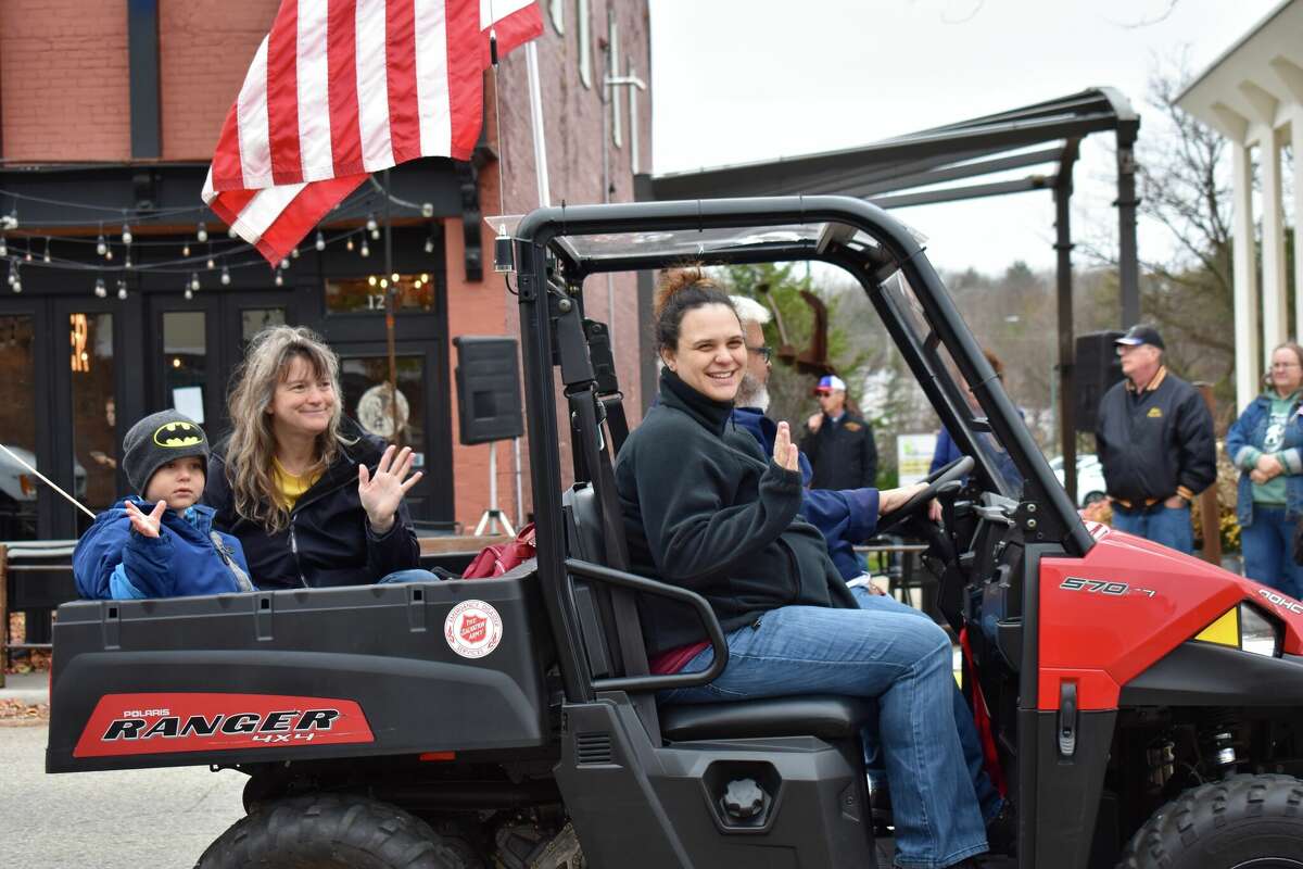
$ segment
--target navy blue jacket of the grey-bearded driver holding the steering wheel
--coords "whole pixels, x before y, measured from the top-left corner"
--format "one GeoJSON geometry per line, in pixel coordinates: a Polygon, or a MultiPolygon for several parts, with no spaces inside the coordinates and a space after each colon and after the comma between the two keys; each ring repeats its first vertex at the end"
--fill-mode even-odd
{"type": "MultiPolygon", "coordinates": [[[[735,408],[734,422],[749,431],[760,442],[766,456],[774,455],[778,423],[756,408],[735,408]]],[[[827,541],[827,552],[843,580],[853,580],[864,573],[864,565],[855,554],[855,545],[873,537],[878,526],[877,489],[810,489],[810,463],[805,453],[801,466],[800,516],[817,528],[827,541]]]]}

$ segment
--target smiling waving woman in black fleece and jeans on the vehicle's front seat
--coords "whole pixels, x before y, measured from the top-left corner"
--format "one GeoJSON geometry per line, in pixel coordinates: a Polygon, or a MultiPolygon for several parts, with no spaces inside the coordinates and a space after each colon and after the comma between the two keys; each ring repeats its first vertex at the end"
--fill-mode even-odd
{"type": "MultiPolygon", "coordinates": [[[[820,532],[797,517],[799,451],[779,423],[773,457],[730,423],[747,366],[741,324],[700,270],[667,275],[655,300],[659,401],[616,460],[637,572],[710,603],[728,642],[711,684],[666,702],[784,694],[874,697],[896,823],[896,865],[976,865],[982,818],[952,713],[951,646],[926,619],[859,608],[820,532]]],[[[692,648],[702,627],[645,598],[650,655],[692,648]]],[[[683,671],[705,670],[709,646],[683,671]]]]}

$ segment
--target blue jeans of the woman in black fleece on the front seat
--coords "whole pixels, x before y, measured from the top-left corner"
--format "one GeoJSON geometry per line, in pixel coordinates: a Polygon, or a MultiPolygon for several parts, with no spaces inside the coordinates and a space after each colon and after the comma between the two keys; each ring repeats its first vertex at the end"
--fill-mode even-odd
{"type": "MultiPolygon", "coordinates": [[[[865,606],[860,593],[857,599],[865,606]]],[[[986,851],[986,833],[955,728],[950,637],[932,619],[866,608],[787,606],[731,632],[728,666],[709,685],[662,702],[719,702],[791,694],[877,698],[878,732],[895,821],[896,865],[938,869],[986,851]]],[[[714,659],[704,649],[684,672],[714,659]]],[[[966,706],[967,710],[967,706],[966,706]]]]}

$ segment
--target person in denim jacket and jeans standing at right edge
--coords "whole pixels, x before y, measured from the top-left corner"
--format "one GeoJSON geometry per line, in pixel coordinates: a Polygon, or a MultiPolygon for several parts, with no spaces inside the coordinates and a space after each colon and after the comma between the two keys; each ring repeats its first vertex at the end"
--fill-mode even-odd
{"type": "Polygon", "coordinates": [[[1303,567],[1293,558],[1303,517],[1303,348],[1272,350],[1272,371],[1226,433],[1226,455],[1240,469],[1235,519],[1243,529],[1244,576],[1293,598],[1303,595],[1303,567]]]}

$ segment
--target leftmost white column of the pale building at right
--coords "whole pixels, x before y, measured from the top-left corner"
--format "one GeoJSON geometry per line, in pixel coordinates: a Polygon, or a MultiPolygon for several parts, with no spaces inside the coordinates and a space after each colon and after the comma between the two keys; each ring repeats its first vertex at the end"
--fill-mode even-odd
{"type": "Polygon", "coordinates": [[[1257,340],[1257,270],[1253,257],[1253,171],[1248,146],[1231,141],[1235,212],[1235,410],[1260,392],[1263,354],[1257,340]]]}

